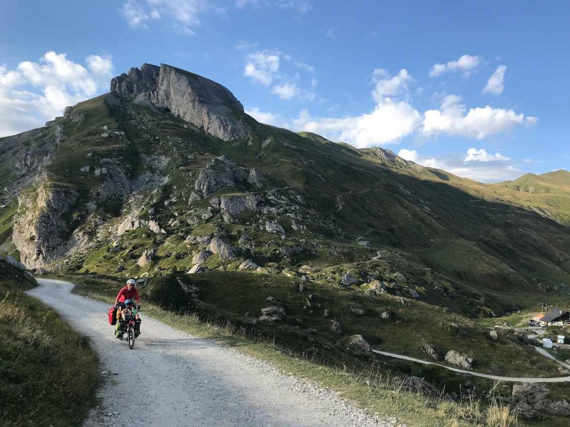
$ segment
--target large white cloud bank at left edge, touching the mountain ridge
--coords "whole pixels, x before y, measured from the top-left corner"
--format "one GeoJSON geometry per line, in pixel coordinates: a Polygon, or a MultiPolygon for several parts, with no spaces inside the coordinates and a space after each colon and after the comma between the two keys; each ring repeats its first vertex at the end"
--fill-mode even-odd
{"type": "Polygon", "coordinates": [[[89,69],[66,54],[47,52],[37,63],[23,61],[11,71],[0,67],[0,137],[42,126],[108,87],[111,58],[90,55],[86,64],[89,69]]]}

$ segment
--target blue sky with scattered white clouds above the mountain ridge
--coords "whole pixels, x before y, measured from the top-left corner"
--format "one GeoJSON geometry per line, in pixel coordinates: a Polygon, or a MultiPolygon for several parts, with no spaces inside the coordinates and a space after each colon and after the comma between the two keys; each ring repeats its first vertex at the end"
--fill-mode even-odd
{"type": "Polygon", "coordinates": [[[4,1],[0,137],[165,63],[260,122],[480,182],[568,170],[569,18],[563,1],[4,1]]]}

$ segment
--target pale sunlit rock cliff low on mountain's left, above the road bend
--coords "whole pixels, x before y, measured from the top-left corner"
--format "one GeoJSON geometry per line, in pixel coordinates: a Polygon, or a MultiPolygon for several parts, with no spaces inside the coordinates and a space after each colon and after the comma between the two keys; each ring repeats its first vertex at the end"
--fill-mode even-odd
{"type": "Polygon", "coordinates": [[[12,241],[26,268],[42,268],[63,255],[68,231],[63,217],[78,198],[75,188],[50,184],[18,195],[12,241]]]}

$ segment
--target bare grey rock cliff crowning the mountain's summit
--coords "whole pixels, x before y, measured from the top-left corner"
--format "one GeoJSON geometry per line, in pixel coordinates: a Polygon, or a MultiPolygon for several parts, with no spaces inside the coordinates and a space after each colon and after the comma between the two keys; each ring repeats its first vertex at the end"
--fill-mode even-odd
{"type": "Polygon", "coordinates": [[[170,65],[143,64],[111,80],[111,92],[122,96],[144,95],[154,106],[168,109],[224,141],[249,136],[250,129],[236,116],[243,106],[221,84],[170,65]]]}

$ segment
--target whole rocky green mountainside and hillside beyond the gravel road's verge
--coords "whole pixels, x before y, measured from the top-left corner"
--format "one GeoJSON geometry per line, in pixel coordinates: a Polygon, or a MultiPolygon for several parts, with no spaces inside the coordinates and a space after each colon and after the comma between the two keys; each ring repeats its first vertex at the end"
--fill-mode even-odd
{"type": "MultiPolygon", "coordinates": [[[[570,338],[568,322],[527,328],[570,310],[567,171],[459,178],[264,125],[222,85],[143,64],[43,128],[0,138],[0,188],[0,255],[34,276],[109,298],[146,279],[143,299],[299,358],[500,404],[520,424],[570,419],[567,383],[435,365],[570,375],[534,348],[570,338]]],[[[569,348],[548,351],[570,364],[569,348]]]]}

